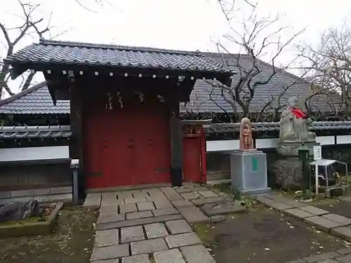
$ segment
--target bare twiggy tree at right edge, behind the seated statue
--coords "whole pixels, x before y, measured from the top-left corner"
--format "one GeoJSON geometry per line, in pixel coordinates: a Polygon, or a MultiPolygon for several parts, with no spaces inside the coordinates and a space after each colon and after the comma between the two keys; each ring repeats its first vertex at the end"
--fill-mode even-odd
{"type": "Polygon", "coordinates": [[[345,113],[351,107],[350,26],[350,21],[346,21],[341,27],[326,30],[315,47],[307,44],[298,47],[303,58],[301,68],[310,71],[314,85],[333,95],[332,106],[345,113]]]}

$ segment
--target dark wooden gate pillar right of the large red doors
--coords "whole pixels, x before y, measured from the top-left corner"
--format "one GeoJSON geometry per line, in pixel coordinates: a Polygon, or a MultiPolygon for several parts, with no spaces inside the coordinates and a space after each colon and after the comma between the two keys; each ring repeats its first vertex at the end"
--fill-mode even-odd
{"type": "Polygon", "coordinates": [[[170,100],[171,183],[173,187],[180,187],[183,182],[183,129],[176,90],[173,90],[170,100]]]}

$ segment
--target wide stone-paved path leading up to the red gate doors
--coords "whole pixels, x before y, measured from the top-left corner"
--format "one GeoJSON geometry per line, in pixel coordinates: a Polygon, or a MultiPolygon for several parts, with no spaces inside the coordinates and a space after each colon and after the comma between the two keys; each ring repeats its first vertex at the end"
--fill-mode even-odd
{"type": "Polygon", "coordinates": [[[190,224],[244,209],[197,185],[93,193],[84,207],[100,208],[94,263],[213,263],[190,224]]]}

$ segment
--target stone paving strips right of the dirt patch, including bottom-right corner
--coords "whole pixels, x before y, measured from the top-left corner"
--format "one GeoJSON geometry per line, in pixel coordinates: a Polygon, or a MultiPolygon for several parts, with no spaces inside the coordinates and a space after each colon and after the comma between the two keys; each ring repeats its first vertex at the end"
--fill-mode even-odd
{"type": "MultiPolygon", "coordinates": [[[[351,242],[351,219],[349,217],[329,213],[329,211],[317,208],[310,203],[280,196],[274,192],[266,194],[265,196],[258,196],[257,200],[280,213],[295,217],[305,222],[305,224],[309,224],[312,227],[316,227],[317,229],[326,231],[326,233],[351,242]]],[[[312,255],[289,263],[305,262],[349,263],[351,262],[351,248],[312,255]]]]}

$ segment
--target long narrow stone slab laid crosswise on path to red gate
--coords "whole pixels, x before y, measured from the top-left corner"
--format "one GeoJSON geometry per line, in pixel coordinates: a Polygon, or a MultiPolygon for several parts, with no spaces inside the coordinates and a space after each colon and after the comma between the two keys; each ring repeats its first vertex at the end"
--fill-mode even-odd
{"type": "Polygon", "coordinates": [[[142,224],[152,224],[152,223],[160,223],[166,222],[168,220],[179,220],[183,219],[181,215],[160,215],[158,217],[146,217],[146,218],[139,218],[136,220],[125,220],[119,222],[109,222],[103,224],[97,224],[97,230],[104,230],[104,229],[118,229],[121,227],[133,227],[133,226],[140,226],[142,224]]]}

